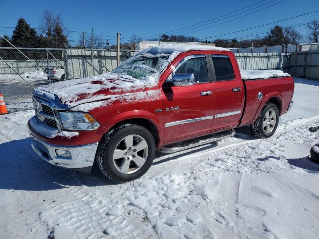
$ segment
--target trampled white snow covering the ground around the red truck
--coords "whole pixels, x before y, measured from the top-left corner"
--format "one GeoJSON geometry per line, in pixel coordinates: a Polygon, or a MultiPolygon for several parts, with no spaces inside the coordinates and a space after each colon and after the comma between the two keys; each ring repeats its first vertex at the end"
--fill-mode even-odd
{"type": "Polygon", "coordinates": [[[319,82],[295,78],[294,108],[270,139],[234,138],[157,154],[115,184],[56,168],[30,147],[33,111],[0,116],[0,238],[318,238],[319,82]]]}

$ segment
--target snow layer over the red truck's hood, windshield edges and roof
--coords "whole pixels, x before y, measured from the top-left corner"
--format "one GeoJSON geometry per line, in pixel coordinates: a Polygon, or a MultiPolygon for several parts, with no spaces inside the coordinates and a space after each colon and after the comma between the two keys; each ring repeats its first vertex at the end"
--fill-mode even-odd
{"type": "MultiPolygon", "coordinates": [[[[149,49],[143,50],[136,56],[130,58],[125,63],[114,69],[113,73],[111,72],[95,77],[56,82],[44,87],[39,87],[34,91],[34,93],[42,96],[44,94],[44,97],[51,98],[52,95],[46,94],[46,92],[55,94],[60,98],[63,104],[70,105],[70,107],[74,107],[83,103],[109,99],[112,98],[112,96],[114,98],[114,96],[119,97],[122,95],[127,95],[128,93],[136,94],[138,92],[144,91],[146,88],[157,86],[160,74],[181,52],[189,50],[224,51],[228,49],[196,44],[168,44],[161,47],[154,46],[149,49]],[[146,75],[139,79],[125,74],[126,65],[141,56],[146,58],[165,58],[160,61],[157,69],[153,69],[154,72],[152,72],[152,74],[146,75]],[[124,71],[118,73],[119,70],[124,71]]],[[[143,71],[146,68],[148,68],[148,66],[134,66],[135,70],[140,69],[141,71],[143,71]]],[[[89,108],[90,107],[87,107],[87,109],[89,108]]]]}

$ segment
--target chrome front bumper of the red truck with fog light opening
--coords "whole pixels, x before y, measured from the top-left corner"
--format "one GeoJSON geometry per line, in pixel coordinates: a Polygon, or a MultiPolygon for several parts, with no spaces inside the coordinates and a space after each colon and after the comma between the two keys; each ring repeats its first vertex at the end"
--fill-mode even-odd
{"type": "Polygon", "coordinates": [[[89,172],[93,166],[98,143],[79,146],[53,145],[31,134],[31,146],[37,155],[50,164],[89,172]],[[58,156],[57,152],[61,151],[69,153],[67,156],[58,156]]]}

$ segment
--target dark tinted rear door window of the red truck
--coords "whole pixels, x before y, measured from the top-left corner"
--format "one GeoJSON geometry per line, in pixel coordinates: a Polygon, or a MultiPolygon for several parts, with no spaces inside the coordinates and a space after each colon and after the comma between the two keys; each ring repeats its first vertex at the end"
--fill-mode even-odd
{"type": "Polygon", "coordinates": [[[226,55],[211,55],[214,68],[216,81],[234,80],[234,70],[231,61],[226,55]]]}

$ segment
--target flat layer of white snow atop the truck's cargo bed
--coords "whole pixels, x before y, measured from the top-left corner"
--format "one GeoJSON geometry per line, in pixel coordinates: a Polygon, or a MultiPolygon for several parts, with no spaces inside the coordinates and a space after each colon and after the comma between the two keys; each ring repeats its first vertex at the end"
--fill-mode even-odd
{"type": "Polygon", "coordinates": [[[290,76],[281,70],[240,70],[241,78],[244,80],[268,79],[274,77],[290,76]]]}

